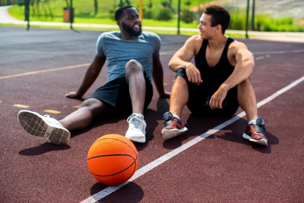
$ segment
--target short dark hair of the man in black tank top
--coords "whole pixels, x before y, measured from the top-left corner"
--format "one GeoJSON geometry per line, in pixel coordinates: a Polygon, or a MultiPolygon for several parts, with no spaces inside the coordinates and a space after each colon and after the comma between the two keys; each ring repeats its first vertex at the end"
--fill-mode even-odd
{"type": "Polygon", "coordinates": [[[211,16],[211,27],[221,25],[224,34],[230,24],[230,14],[227,9],[220,5],[211,5],[204,9],[204,14],[211,16]]]}

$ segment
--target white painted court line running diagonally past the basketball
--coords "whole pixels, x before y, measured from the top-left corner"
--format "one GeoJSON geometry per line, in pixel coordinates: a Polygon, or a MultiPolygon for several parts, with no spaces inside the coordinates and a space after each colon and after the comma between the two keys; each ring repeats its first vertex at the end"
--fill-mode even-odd
{"type": "MultiPolygon", "coordinates": [[[[287,85],[286,87],[283,87],[282,89],[278,90],[277,92],[273,93],[272,95],[270,95],[268,98],[260,101],[257,103],[257,107],[261,107],[264,104],[270,102],[271,100],[275,99],[276,97],[280,96],[281,94],[283,94],[284,92],[287,92],[289,89],[291,89],[292,87],[300,84],[301,82],[304,81],[304,76],[302,76],[301,78],[299,78],[298,80],[292,82],[291,84],[287,85]]],[[[99,191],[98,193],[90,196],[89,198],[85,199],[84,201],[82,201],[81,203],[95,203],[97,201],[100,201],[102,198],[110,195],[111,193],[115,192],[116,190],[118,190],[119,188],[121,188],[122,186],[125,186],[127,184],[129,184],[130,182],[134,181],[136,178],[144,175],[145,173],[149,172],[150,170],[158,167],[159,165],[161,165],[162,163],[168,161],[170,158],[172,158],[173,156],[185,151],[186,149],[190,148],[191,146],[197,144],[198,142],[202,141],[204,138],[208,137],[209,135],[213,135],[216,132],[218,132],[219,130],[223,129],[224,127],[230,125],[231,123],[235,122],[236,120],[244,117],[246,114],[244,111],[242,111],[241,113],[239,113],[238,115],[234,116],[233,118],[221,123],[220,125],[216,126],[215,128],[208,130],[207,132],[203,133],[202,135],[199,135],[197,137],[195,137],[194,139],[191,139],[190,141],[186,142],[185,144],[183,144],[182,146],[176,148],[175,150],[172,150],[169,153],[166,153],[165,155],[159,157],[158,159],[152,161],[150,164],[147,164],[146,166],[138,169],[135,174],[132,176],[131,179],[129,179],[129,181],[120,184],[118,186],[108,186],[106,188],[104,188],[103,190],[99,191]]]]}

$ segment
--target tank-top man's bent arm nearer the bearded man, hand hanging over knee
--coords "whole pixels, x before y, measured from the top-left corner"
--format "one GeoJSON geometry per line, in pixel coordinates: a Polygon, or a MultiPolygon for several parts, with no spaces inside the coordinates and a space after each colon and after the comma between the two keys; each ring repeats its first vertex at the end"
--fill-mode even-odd
{"type": "Polygon", "coordinates": [[[179,49],[170,59],[169,68],[177,72],[180,68],[186,69],[188,81],[199,85],[202,83],[201,73],[198,68],[189,62],[199,51],[202,45],[202,39],[199,35],[188,38],[181,49],[179,49]]]}

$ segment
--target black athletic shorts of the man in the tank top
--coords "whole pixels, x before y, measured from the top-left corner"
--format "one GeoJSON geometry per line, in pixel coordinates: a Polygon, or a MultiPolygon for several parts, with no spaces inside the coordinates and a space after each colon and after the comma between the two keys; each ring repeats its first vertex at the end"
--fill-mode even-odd
{"type": "Polygon", "coordinates": [[[218,90],[221,84],[201,83],[200,85],[188,82],[186,69],[178,70],[175,78],[183,77],[188,84],[189,100],[187,102],[188,109],[193,114],[205,117],[230,117],[236,113],[239,107],[237,101],[237,86],[231,88],[227,92],[227,96],[222,103],[222,109],[211,109],[208,105],[210,97],[218,90]]]}

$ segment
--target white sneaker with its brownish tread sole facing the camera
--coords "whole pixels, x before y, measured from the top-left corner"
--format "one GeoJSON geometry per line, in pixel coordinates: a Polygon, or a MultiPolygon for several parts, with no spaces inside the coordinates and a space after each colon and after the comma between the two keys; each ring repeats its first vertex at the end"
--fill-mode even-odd
{"type": "Polygon", "coordinates": [[[18,113],[18,121],[26,132],[45,137],[56,145],[66,145],[69,141],[68,130],[49,115],[41,116],[36,112],[22,110],[18,113]]]}

